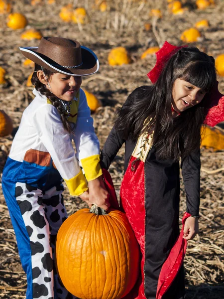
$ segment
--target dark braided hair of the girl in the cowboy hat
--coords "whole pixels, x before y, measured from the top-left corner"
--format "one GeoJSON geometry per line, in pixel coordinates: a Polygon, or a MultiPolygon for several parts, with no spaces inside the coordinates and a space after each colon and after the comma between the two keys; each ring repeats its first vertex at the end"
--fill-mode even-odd
{"type": "Polygon", "coordinates": [[[40,80],[38,79],[37,71],[39,71],[39,70],[44,72],[44,74],[47,77],[46,78],[47,80],[49,80],[50,76],[52,74],[54,74],[54,72],[52,72],[46,68],[41,68],[40,65],[35,63],[35,68],[34,68],[34,72],[32,74],[31,83],[35,86],[36,90],[38,90],[42,95],[46,96],[51,101],[52,105],[57,109],[57,111],[60,114],[62,125],[65,128],[65,130],[68,133],[73,133],[72,128],[67,119],[66,112],[63,109],[63,106],[60,103],[59,99],[46,88],[45,84],[41,83],[40,80]]]}

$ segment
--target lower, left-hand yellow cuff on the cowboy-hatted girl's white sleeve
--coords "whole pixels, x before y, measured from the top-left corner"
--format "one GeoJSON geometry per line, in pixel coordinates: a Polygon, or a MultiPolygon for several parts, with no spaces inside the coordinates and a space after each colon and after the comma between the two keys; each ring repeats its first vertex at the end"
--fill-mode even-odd
{"type": "Polygon", "coordinates": [[[64,181],[69,189],[70,195],[79,196],[88,190],[87,181],[81,169],[76,176],[70,179],[64,179],[64,181]]]}

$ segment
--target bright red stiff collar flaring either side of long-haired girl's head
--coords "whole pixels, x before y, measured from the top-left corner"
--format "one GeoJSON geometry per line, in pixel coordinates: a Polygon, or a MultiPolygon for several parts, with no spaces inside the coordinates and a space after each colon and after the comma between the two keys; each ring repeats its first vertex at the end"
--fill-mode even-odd
{"type": "MultiPolygon", "coordinates": [[[[152,83],[157,81],[164,65],[170,57],[183,47],[187,46],[177,47],[165,41],[161,49],[156,52],[156,64],[154,68],[147,74],[152,83]]],[[[217,81],[211,92],[205,96],[206,105],[209,108],[205,124],[212,127],[224,121],[224,95],[219,92],[218,84],[219,82],[217,81]]]]}

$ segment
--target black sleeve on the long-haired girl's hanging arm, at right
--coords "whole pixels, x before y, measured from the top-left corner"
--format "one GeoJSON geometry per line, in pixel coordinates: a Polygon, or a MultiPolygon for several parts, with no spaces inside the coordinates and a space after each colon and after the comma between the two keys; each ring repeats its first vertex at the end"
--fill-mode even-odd
{"type": "Polygon", "coordinates": [[[181,168],[186,193],[187,212],[193,216],[198,216],[200,205],[200,149],[186,156],[181,161],[181,168]]]}

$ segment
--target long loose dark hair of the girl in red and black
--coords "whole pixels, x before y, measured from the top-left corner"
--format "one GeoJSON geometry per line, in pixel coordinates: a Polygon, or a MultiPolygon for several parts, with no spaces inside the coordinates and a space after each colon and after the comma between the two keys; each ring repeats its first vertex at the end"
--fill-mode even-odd
{"type": "Polygon", "coordinates": [[[161,159],[178,160],[199,149],[208,113],[205,96],[198,105],[172,117],[172,90],[178,78],[209,93],[216,82],[214,58],[196,47],[180,49],[154,85],[139,87],[128,96],[115,121],[126,140],[136,141],[142,133],[154,131],[152,143],[161,159]]]}

